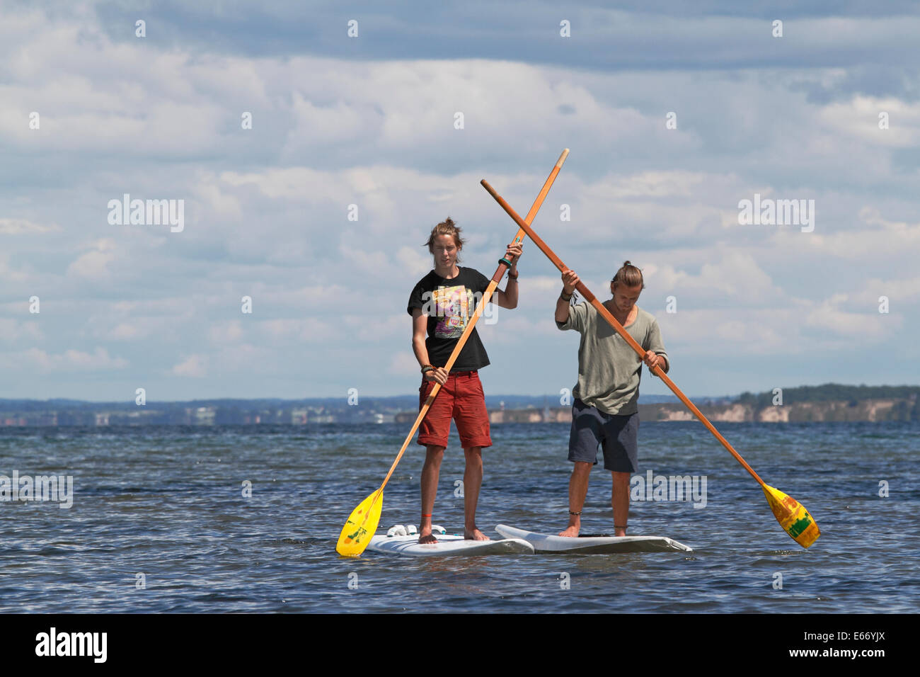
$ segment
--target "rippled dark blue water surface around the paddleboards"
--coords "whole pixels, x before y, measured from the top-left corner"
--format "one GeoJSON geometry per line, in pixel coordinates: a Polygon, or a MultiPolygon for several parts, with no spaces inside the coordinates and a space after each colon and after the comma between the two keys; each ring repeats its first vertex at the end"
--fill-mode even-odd
{"type": "MultiPolygon", "coordinates": [[[[759,486],[694,422],[643,423],[639,473],[705,475],[706,507],[634,501],[629,515],[630,534],[667,535],[693,553],[437,560],[335,553],[345,519],[383,480],[406,426],[5,428],[0,474],[73,475],[74,496],[69,509],[0,502],[0,612],[920,610],[920,425],[719,430],[768,484],[811,511],[822,531],[811,549],[782,531],[759,486]],[[879,496],[882,481],[888,497],[879,496]]],[[[568,435],[566,425],[492,427],[483,531],[565,526],[568,435]]],[[[421,460],[413,442],[387,484],[378,532],[418,522],[421,460]]],[[[463,526],[454,496],[462,476],[452,434],[434,515],[448,531],[463,526]]],[[[600,466],[582,519],[583,531],[612,528],[610,475],[600,466]]]]}

